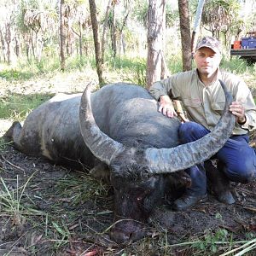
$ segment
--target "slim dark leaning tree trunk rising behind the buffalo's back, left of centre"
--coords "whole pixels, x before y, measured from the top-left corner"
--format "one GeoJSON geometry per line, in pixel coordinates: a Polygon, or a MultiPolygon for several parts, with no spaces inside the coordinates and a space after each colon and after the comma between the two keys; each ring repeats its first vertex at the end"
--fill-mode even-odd
{"type": "Polygon", "coordinates": [[[98,32],[98,20],[96,17],[96,3],[95,0],[89,0],[90,4],[90,20],[94,39],[95,57],[96,57],[96,70],[99,78],[100,87],[104,84],[102,79],[102,58],[101,58],[101,44],[98,32]]]}

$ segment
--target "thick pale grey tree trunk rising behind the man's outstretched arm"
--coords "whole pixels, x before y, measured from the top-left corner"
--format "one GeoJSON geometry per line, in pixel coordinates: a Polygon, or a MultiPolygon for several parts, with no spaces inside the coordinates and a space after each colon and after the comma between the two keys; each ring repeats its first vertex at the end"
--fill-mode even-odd
{"type": "Polygon", "coordinates": [[[149,88],[160,80],[162,68],[163,27],[166,0],[149,0],[148,3],[148,58],[146,84],[149,88]]]}

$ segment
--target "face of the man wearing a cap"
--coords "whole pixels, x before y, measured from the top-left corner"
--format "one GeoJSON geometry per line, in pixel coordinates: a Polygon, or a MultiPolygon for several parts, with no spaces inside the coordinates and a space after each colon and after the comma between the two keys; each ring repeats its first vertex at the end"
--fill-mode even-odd
{"type": "Polygon", "coordinates": [[[217,70],[221,55],[211,48],[202,47],[195,52],[195,65],[199,74],[210,77],[217,70]]]}

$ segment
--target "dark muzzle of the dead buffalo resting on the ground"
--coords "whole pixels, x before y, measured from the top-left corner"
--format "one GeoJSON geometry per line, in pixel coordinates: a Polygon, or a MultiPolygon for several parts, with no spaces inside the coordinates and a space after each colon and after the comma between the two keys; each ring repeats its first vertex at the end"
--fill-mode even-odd
{"type": "Polygon", "coordinates": [[[111,229],[109,236],[118,244],[127,244],[142,239],[147,235],[142,223],[133,220],[119,220],[111,229]]]}

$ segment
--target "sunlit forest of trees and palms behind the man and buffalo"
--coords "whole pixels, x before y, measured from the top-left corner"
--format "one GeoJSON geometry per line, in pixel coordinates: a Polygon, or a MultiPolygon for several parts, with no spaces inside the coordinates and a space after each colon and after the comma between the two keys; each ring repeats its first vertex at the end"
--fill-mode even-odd
{"type": "MultiPolygon", "coordinates": [[[[100,76],[99,83],[105,84],[109,82],[108,67],[117,64],[124,67],[128,60],[145,67],[154,38],[154,49],[161,50],[171,72],[188,69],[189,64],[184,61],[183,67],[178,66],[181,63],[178,58],[183,53],[187,61],[191,59],[190,34],[197,3],[196,0],[2,0],[0,61],[10,67],[22,67],[26,78],[32,72],[95,67],[100,61],[105,78],[100,76]],[[174,61],[177,67],[170,67],[174,61]]],[[[256,30],[255,5],[253,0],[205,1],[198,35],[219,38],[229,60],[234,40],[256,30]]],[[[150,66],[150,62],[147,64],[150,66]]],[[[4,73],[1,77],[4,78],[4,73]]]]}

